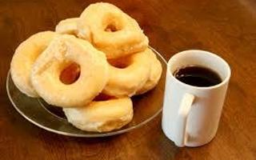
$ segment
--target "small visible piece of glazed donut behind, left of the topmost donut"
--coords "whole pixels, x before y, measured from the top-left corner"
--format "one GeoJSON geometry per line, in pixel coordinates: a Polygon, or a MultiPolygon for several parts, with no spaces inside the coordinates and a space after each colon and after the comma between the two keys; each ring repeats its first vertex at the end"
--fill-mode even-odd
{"type": "Polygon", "coordinates": [[[58,22],[58,25],[55,27],[55,31],[58,34],[78,34],[77,29],[78,18],[66,18],[61,22],[58,22]]]}

